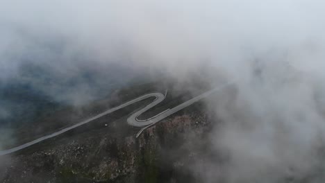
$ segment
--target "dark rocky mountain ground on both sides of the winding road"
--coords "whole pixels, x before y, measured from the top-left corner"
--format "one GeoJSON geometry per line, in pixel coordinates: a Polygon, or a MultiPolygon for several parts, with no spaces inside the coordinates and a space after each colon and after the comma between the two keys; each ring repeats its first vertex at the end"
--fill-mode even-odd
{"type": "MultiPolygon", "coordinates": [[[[164,86],[169,88],[165,101],[142,114],[140,118],[178,105],[208,88],[201,82],[199,89],[189,92],[181,91],[181,85],[188,88],[186,82],[178,83],[177,86],[165,83],[164,86]]],[[[42,125],[42,121],[35,121],[29,127],[17,130],[16,143],[71,125],[73,119],[94,115],[134,96],[163,89],[165,87],[152,84],[131,87],[78,110],[60,111],[56,114],[59,116],[57,120],[47,116],[45,125],[42,125]],[[131,90],[133,92],[129,92],[131,90]],[[76,115],[76,112],[80,115],[76,115]],[[67,116],[65,121],[64,114],[67,116]],[[56,121],[58,123],[55,123],[56,121]],[[41,128],[42,126],[44,128],[41,128]]],[[[205,156],[204,148],[207,145],[201,142],[206,141],[204,139],[213,127],[211,118],[204,112],[206,105],[203,102],[195,103],[160,121],[135,138],[140,129],[129,126],[126,118],[151,101],[152,98],[148,98],[58,137],[0,157],[0,181],[196,182],[189,167],[194,159],[205,156]]]]}

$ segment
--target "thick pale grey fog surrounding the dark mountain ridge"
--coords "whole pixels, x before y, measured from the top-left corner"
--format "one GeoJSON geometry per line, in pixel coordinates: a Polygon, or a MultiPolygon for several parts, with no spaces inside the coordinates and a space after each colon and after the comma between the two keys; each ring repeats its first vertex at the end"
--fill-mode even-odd
{"type": "MultiPolygon", "coordinates": [[[[181,80],[208,68],[238,89],[230,107],[208,103],[223,121],[210,150],[227,160],[190,170],[203,182],[304,177],[323,161],[324,8],[317,0],[2,2],[0,84],[26,82],[78,105],[97,96],[92,87],[139,73],[181,80]]],[[[0,119],[11,112],[1,104],[0,119]]]]}

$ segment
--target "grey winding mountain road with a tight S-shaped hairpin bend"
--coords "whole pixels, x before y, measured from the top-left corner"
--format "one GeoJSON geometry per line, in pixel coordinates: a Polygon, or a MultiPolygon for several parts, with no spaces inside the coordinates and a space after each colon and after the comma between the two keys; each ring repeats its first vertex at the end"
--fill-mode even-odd
{"type": "Polygon", "coordinates": [[[175,112],[178,112],[179,110],[182,110],[183,108],[188,107],[192,103],[200,101],[202,98],[206,98],[210,94],[213,94],[214,92],[218,92],[218,91],[224,89],[225,87],[227,87],[228,85],[232,85],[233,83],[234,82],[227,82],[226,84],[224,84],[222,86],[215,87],[214,89],[210,89],[208,92],[200,94],[199,96],[196,96],[196,97],[190,99],[189,101],[181,103],[180,105],[177,105],[176,107],[174,107],[172,109],[168,109],[168,110],[165,110],[163,112],[160,112],[156,116],[152,116],[151,118],[145,119],[145,120],[139,120],[138,116],[140,116],[140,114],[146,112],[147,110],[151,109],[153,106],[155,106],[158,103],[160,103],[161,101],[163,101],[165,99],[165,97],[166,97],[167,92],[166,92],[166,94],[161,94],[161,93],[145,94],[145,95],[140,96],[138,98],[135,98],[135,99],[133,99],[131,101],[123,103],[122,105],[119,105],[117,107],[113,107],[113,108],[111,108],[109,110],[106,110],[105,112],[102,112],[101,114],[97,114],[96,116],[92,116],[90,119],[86,119],[85,121],[81,121],[79,123],[76,123],[75,125],[72,125],[72,126],[70,126],[68,128],[64,128],[62,130],[59,130],[58,132],[54,132],[53,134],[49,134],[49,135],[46,135],[44,137],[40,137],[39,139],[35,139],[35,140],[30,141],[28,143],[24,143],[24,144],[22,144],[20,146],[17,146],[15,148],[10,148],[8,150],[1,150],[0,151],[0,156],[1,155],[7,155],[9,153],[14,153],[17,150],[22,150],[24,148],[32,146],[35,143],[39,143],[40,141],[44,141],[46,139],[56,137],[59,134],[63,134],[64,132],[67,132],[69,130],[77,128],[78,126],[84,125],[85,123],[89,123],[90,121],[94,121],[95,119],[98,119],[101,116],[105,116],[106,114],[110,114],[111,112],[115,112],[115,111],[117,111],[119,109],[122,109],[123,107],[131,105],[133,103],[137,103],[138,101],[142,101],[142,100],[144,100],[146,98],[155,96],[156,98],[152,103],[149,103],[149,105],[147,105],[146,107],[143,107],[141,110],[138,110],[137,112],[134,112],[133,114],[131,114],[131,116],[128,116],[128,119],[126,119],[128,125],[132,125],[132,126],[135,126],[135,127],[142,127],[140,132],[138,132],[138,134],[136,135],[136,137],[138,137],[141,134],[141,132],[143,132],[143,130],[151,127],[152,125],[156,124],[158,121],[161,121],[162,119],[165,119],[167,116],[170,116],[170,115],[174,114],[175,112]]]}

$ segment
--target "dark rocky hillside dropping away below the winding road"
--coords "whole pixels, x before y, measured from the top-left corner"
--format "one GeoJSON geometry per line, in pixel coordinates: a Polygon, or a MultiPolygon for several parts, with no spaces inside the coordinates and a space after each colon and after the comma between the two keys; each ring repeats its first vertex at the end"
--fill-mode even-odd
{"type": "Polygon", "coordinates": [[[1,182],[197,182],[191,164],[204,155],[211,128],[197,103],[144,131],[102,119],[101,128],[69,132],[1,157],[1,182]],[[106,128],[108,127],[108,128],[106,128]],[[129,129],[128,129],[129,128],[129,129]]]}

